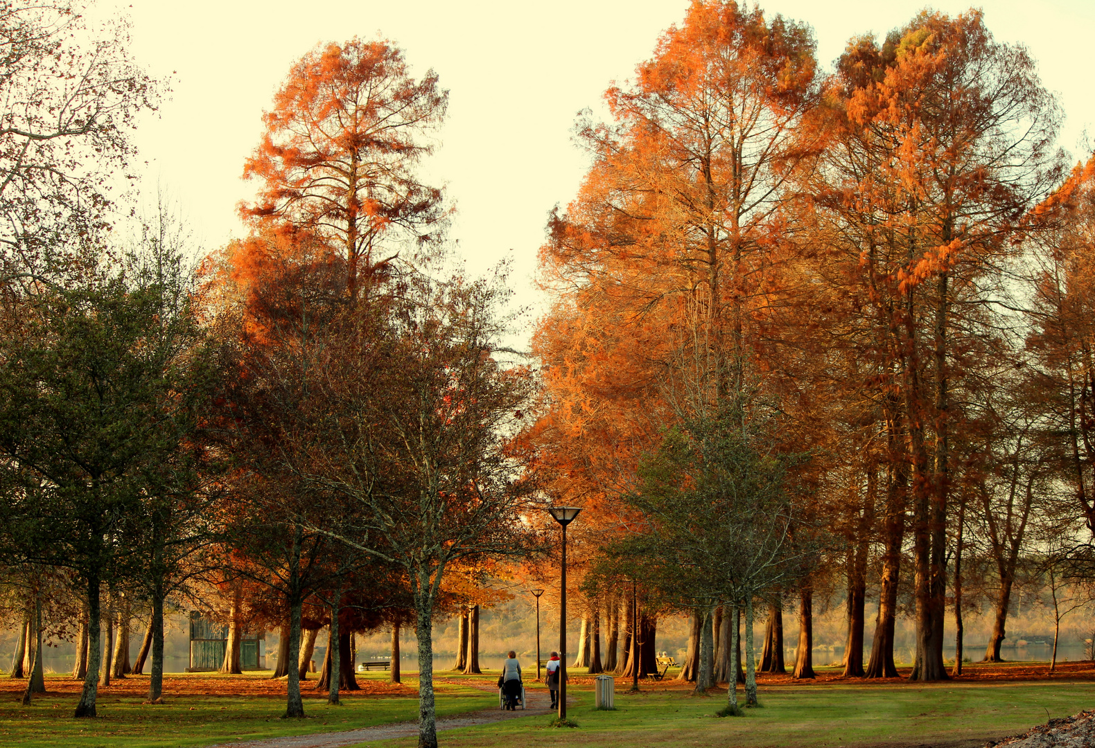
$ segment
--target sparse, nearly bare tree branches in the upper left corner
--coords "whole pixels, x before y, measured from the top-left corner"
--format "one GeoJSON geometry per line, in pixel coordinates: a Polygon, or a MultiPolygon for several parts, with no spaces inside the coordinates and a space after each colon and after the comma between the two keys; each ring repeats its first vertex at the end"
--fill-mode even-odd
{"type": "Polygon", "coordinates": [[[128,52],[128,22],[80,2],[0,3],[0,246],[8,280],[66,272],[110,225],[130,135],[161,85],[128,52]],[[112,194],[113,192],[113,194],[112,194]]]}

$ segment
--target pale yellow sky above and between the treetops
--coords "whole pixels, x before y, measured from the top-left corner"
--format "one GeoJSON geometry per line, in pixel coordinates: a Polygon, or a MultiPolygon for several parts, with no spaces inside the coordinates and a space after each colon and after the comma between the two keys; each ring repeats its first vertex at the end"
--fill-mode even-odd
{"type": "MultiPolygon", "coordinates": [[[[812,25],[828,65],[850,36],[884,36],[924,4],[773,0],[763,8],[812,25]]],[[[979,5],[999,40],[1025,44],[1039,61],[1068,116],[1062,145],[1079,152],[1081,133],[1095,122],[1095,0],[979,5]]],[[[137,142],[149,161],[147,188],[159,180],[174,194],[209,248],[241,231],[235,203],[254,191],[240,179],[243,160],[290,63],[320,42],[378,32],[394,40],[416,71],[434,68],[451,91],[429,172],[457,202],[452,237],[476,272],[512,256],[512,282],[531,299],[546,213],[573,197],[586,165],[570,140],[575,114],[597,107],[608,83],[627,78],[687,7],[687,0],[100,0],[96,12],[128,12],[136,58],[154,75],[174,71],[171,101],[141,126],[137,142]]],[[[933,7],[957,13],[970,3],[933,7]]]]}

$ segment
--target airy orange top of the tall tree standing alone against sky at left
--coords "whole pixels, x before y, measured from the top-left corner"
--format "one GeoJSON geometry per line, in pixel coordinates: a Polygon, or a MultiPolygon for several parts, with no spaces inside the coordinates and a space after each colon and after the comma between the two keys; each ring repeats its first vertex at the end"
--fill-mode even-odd
{"type": "Polygon", "coordinates": [[[262,186],[241,213],[337,248],[348,295],[368,295],[406,245],[435,244],[443,233],[441,190],[415,167],[433,152],[448,96],[433,70],[414,80],[387,40],[316,47],[263,115],[266,132],[243,170],[262,186]]]}

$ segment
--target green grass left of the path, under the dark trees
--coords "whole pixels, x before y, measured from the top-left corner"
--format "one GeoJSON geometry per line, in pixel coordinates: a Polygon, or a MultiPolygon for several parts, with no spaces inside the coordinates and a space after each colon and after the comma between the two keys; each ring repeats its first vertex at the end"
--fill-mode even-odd
{"type": "MultiPolygon", "coordinates": [[[[413,679],[404,679],[416,686],[413,679]]],[[[47,681],[48,687],[48,681],[47,681]]],[[[330,706],[306,690],[304,720],[281,720],[285,697],[177,696],[166,704],[142,704],[139,697],[100,692],[93,720],[74,720],[78,700],[71,694],[36,697],[30,708],[5,694],[0,702],[0,746],[38,748],[162,748],[206,746],[234,739],[306,735],[370,727],[418,717],[416,697],[349,696],[330,706]]],[[[479,711],[497,704],[497,697],[464,686],[438,687],[438,713],[479,711]]]]}

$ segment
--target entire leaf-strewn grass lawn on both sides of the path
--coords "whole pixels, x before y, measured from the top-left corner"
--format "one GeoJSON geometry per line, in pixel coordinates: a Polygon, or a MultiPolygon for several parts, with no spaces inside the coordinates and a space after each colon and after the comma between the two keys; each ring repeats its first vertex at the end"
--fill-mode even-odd
{"type": "MultiPolygon", "coordinates": [[[[1007,678],[1006,669],[996,673],[1007,678]]],[[[325,705],[311,688],[314,681],[309,681],[303,689],[309,718],[303,721],[278,718],[285,709],[285,683],[257,674],[171,676],[165,681],[166,703],[155,706],[141,703],[147,678],[130,678],[101,692],[100,717],[79,721],[71,717],[79,697],[76,681],[47,676],[50,692],[24,709],[18,698],[25,681],[3,679],[0,746],[206,746],[413,721],[417,716],[415,675],[404,676],[403,687],[384,683],[385,674],[359,676],[364,691],[346,694],[342,706],[325,705]]],[[[496,708],[497,697],[491,690],[495,675],[438,676],[440,716],[496,708]]],[[[574,700],[568,716],[578,723],[577,729],[549,728],[548,717],[540,714],[446,731],[440,741],[463,748],[979,747],[990,738],[1025,732],[1045,722],[1047,713],[1062,716],[1095,706],[1095,681],[1083,679],[1079,671],[1052,680],[927,686],[897,679],[864,683],[819,678],[811,685],[773,680],[761,687],[762,708],[737,718],[714,716],[726,703],[725,691],[694,697],[683,683],[644,682],[643,692],[632,696],[624,692],[626,682],[618,680],[616,687],[616,711],[598,712],[592,708],[589,679],[576,679],[568,688],[574,700]]],[[[529,688],[543,686],[529,683],[529,688]]],[[[411,748],[416,743],[415,738],[397,738],[360,747],[411,748]]]]}

